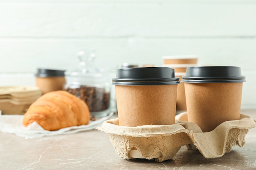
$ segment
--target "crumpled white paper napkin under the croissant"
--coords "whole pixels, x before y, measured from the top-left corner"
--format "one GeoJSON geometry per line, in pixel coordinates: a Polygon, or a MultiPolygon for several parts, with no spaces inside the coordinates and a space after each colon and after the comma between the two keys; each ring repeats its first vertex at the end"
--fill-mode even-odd
{"type": "Polygon", "coordinates": [[[90,121],[88,125],[72,126],[54,131],[44,130],[36,122],[33,122],[31,125],[25,127],[22,124],[24,115],[0,115],[0,131],[4,133],[14,133],[20,137],[25,137],[26,139],[61,134],[72,134],[95,129],[98,126],[101,126],[103,121],[109,119],[113,114],[114,113],[111,112],[106,117],[102,117],[95,121],[90,121]]]}

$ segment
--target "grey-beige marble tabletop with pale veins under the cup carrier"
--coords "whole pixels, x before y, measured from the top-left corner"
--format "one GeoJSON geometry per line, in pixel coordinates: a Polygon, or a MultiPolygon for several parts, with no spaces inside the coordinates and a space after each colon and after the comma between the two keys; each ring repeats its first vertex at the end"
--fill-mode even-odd
{"type": "MultiPolygon", "coordinates": [[[[256,119],[255,109],[241,112],[256,119]]],[[[98,130],[34,139],[0,132],[0,170],[256,170],[256,128],[245,141],[214,159],[182,146],[173,160],[158,163],[120,158],[108,134],[98,130]]]]}

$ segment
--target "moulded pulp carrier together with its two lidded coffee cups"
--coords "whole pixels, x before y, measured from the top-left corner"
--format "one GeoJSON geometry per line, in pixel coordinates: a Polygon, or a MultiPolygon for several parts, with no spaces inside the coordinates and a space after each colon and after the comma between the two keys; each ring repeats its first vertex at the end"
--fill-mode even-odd
{"type": "Polygon", "coordinates": [[[205,158],[217,158],[229,152],[234,144],[240,147],[245,144],[245,135],[256,127],[256,122],[253,117],[240,114],[241,85],[245,82],[240,68],[196,68],[189,68],[183,77],[189,107],[187,113],[176,115],[175,124],[172,124],[175,90],[171,88],[177,87],[179,78],[174,76],[172,68],[117,71],[112,83],[117,89],[119,118],[104,121],[96,129],[108,133],[121,158],[162,162],[173,159],[181,146],[196,149],[205,158]],[[166,106],[163,99],[173,103],[166,106]],[[202,131],[218,124],[211,132],[202,131]]]}

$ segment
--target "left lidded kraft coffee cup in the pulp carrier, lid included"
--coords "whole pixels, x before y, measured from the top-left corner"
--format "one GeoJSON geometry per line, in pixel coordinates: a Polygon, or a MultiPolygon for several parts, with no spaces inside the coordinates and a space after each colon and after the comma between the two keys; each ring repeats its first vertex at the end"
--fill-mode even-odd
{"type": "Polygon", "coordinates": [[[180,81],[173,68],[120,68],[112,84],[120,126],[175,124],[180,81]]]}

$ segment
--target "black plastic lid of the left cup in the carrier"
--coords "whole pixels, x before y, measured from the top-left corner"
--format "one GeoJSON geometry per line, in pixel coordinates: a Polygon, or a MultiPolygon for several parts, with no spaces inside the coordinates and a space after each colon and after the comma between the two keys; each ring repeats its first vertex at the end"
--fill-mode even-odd
{"type": "Polygon", "coordinates": [[[143,86],[180,84],[180,78],[175,77],[175,71],[169,67],[135,67],[120,68],[117,78],[112,79],[114,85],[143,86]]]}

